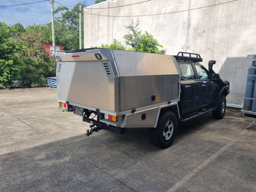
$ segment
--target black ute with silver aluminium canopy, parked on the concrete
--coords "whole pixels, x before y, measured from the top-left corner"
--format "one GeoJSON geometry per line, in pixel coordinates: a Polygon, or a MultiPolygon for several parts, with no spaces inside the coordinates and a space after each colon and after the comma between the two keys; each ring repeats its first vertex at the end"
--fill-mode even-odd
{"type": "Polygon", "coordinates": [[[199,54],[177,56],[113,49],[56,54],[60,109],[88,122],[90,130],[149,128],[150,141],[170,147],[178,122],[212,111],[225,115],[228,81],[200,65],[199,54]]]}

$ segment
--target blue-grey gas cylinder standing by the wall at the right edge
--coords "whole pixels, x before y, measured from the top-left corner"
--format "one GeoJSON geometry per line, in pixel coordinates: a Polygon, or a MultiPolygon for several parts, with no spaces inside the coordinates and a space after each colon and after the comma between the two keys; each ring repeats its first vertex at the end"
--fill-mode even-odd
{"type": "MultiPolygon", "coordinates": [[[[250,111],[252,109],[252,101],[253,98],[256,99],[256,88],[255,88],[255,74],[256,74],[256,65],[255,62],[252,63],[252,66],[248,68],[247,74],[247,83],[245,89],[245,96],[244,96],[244,106],[243,109],[246,111],[250,111]],[[253,94],[253,90],[255,90],[253,94]]],[[[253,110],[256,111],[256,100],[253,102],[255,106],[253,106],[253,110]]]]}

